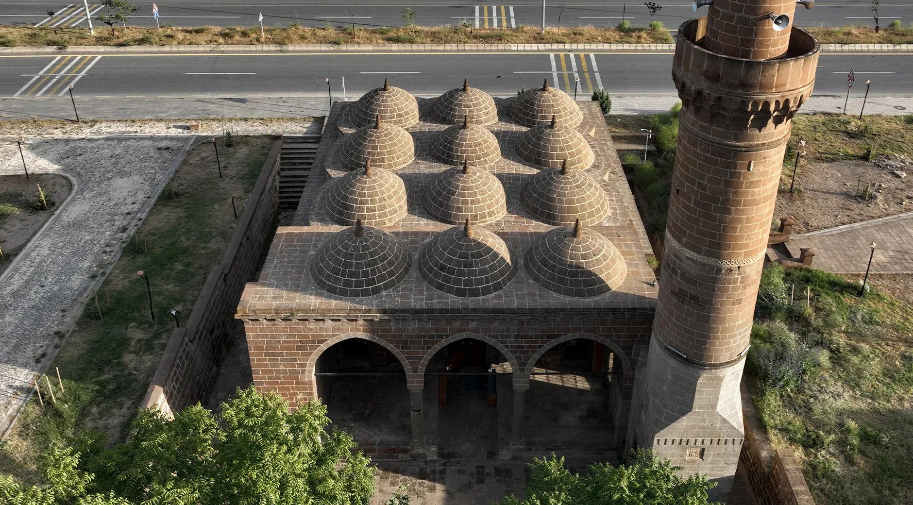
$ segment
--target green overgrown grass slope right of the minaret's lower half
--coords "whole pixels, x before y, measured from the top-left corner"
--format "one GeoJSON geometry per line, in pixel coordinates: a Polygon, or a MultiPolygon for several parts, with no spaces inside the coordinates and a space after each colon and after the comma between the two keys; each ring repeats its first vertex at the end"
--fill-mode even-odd
{"type": "Polygon", "coordinates": [[[913,493],[913,311],[858,293],[820,270],[767,268],[747,377],[774,445],[800,455],[818,503],[900,505],[913,493]]]}

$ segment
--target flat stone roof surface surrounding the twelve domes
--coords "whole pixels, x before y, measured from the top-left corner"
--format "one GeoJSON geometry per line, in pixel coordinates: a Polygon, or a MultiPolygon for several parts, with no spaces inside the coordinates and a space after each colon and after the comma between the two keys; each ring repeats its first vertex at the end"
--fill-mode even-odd
{"type": "MultiPolygon", "coordinates": [[[[485,128],[498,139],[502,158],[476,170],[488,170],[504,185],[508,212],[497,221],[475,225],[501,237],[510,250],[516,274],[504,289],[477,298],[461,298],[439,291],[422,279],[417,266],[419,252],[438,233],[452,225],[437,222],[425,213],[422,195],[437,174],[452,165],[439,163],[429,153],[429,145],[446,124],[429,116],[433,100],[419,99],[421,121],[406,128],[415,139],[415,161],[394,170],[402,177],[408,195],[409,214],[390,226],[380,226],[401,240],[413,258],[413,268],[392,289],[363,298],[344,298],[317,286],[310,276],[310,261],[317,249],[333,234],[346,229],[324,214],[323,198],[336,179],[348,171],[341,167],[338,153],[341,140],[354,128],[348,121],[353,102],[336,102],[327,119],[320,150],[311,169],[308,186],[301,196],[293,226],[280,226],[269,249],[260,278],[248,282],[238,304],[239,319],[398,319],[409,315],[498,315],[530,314],[548,316],[570,311],[625,313],[653,311],[658,287],[646,258],[653,251],[635,206],[634,195],[624,178],[621,162],[614,151],[611,134],[595,101],[578,102],[583,121],[575,128],[593,149],[593,164],[585,169],[603,189],[609,205],[608,215],[589,229],[608,238],[618,248],[626,266],[624,281],[614,290],[591,298],[562,296],[537,284],[525,270],[530,244],[555,228],[537,221],[520,205],[523,184],[540,172],[519,158],[514,143],[529,130],[510,118],[513,99],[495,99],[499,121],[485,128]]],[[[462,227],[462,226],[460,226],[462,227]]]]}

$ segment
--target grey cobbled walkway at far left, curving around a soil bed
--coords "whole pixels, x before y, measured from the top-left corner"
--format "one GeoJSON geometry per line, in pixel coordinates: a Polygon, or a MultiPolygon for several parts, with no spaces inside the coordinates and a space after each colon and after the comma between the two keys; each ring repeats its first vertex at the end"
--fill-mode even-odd
{"type": "MultiPolygon", "coordinates": [[[[53,360],[89,295],[121,256],[193,138],[30,140],[29,172],[68,176],[73,191],[0,276],[0,433],[53,360]]],[[[21,174],[16,143],[0,174],[21,174]]]]}

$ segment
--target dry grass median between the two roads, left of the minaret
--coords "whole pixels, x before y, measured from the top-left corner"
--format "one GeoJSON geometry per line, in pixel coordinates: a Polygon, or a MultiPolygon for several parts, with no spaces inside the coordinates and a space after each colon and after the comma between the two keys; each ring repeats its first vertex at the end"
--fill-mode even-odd
{"type": "Polygon", "coordinates": [[[462,26],[413,26],[396,28],[267,28],[266,40],[257,27],[199,26],[154,28],[128,26],[100,27],[95,35],[85,28],[0,26],[0,47],[19,46],[183,46],[237,44],[534,44],[573,42],[671,43],[668,31],[582,26],[550,28],[544,35],[539,28],[519,26],[515,30],[466,28],[462,26]]]}

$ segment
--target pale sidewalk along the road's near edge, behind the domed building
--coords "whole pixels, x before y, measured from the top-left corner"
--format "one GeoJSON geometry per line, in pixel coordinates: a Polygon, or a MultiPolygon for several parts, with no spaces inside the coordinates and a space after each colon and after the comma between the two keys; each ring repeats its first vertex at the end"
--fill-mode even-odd
{"type": "MultiPolygon", "coordinates": [[[[422,95],[417,95],[422,96],[422,95]]],[[[436,96],[436,95],[435,95],[436,96]]],[[[357,97],[349,97],[357,100],[357,97]]],[[[813,96],[800,112],[842,112],[845,97],[813,96]]],[[[862,97],[851,97],[847,110],[856,114],[862,107],[862,97]]],[[[612,114],[656,114],[665,112],[678,102],[676,95],[614,96],[612,114]]],[[[327,113],[325,96],[270,97],[246,95],[239,97],[155,97],[131,96],[120,98],[77,98],[79,117],[85,120],[142,120],[194,118],[303,118],[327,113]]],[[[869,95],[867,114],[913,114],[913,97],[869,95]]],[[[66,120],[73,119],[73,105],[68,97],[2,98],[0,120],[66,120]]]]}

